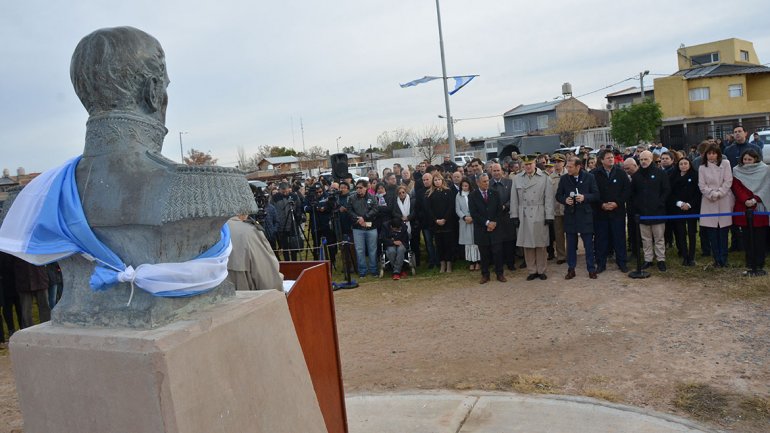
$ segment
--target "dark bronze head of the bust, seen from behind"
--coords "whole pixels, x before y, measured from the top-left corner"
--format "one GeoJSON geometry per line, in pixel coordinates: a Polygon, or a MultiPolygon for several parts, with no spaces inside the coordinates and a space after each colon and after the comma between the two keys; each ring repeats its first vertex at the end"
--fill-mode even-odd
{"type": "Polygon", "coordinates": [[[99,29],[81,39],[70,78],[90,116],[127,111],[166,121],[165,54],[160,42],[141,30],[99,29]]]}

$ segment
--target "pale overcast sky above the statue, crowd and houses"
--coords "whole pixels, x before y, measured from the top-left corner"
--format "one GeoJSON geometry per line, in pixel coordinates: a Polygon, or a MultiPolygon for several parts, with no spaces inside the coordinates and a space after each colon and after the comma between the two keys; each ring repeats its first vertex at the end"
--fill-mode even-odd
{"type": "MultiPolygon", "coordinates": [[[[196,148],[233,166],[239,147],[365,147],[383,131],[446,125],[433,0],[219,0],[0,6],[0,149],[15,174],[52,168],[83,149],[87,115],[69,79],[86,34],[129,25],[166,52],[169,106],[163,153],[196,148]],[[443,123],[442,123],[443,122],[443,123]]],[[[649,70],[676,71],[680,44],[737,37],[770,62],[766,1],[442,0],[447,74],[480,76],[450,97],[458,137],[503,130],[502,113],[552,100],[564,82],[592,108],[602,89],[649,70]],[[590,95],[581,96],[589,92],[590,95]],[[471,120],[468,118],[488,117],[471,120]],[[468,120],[462,120],[468,119],[468,120]]],[[[656,75],[660,74],[660,75],[656,75]]]]}

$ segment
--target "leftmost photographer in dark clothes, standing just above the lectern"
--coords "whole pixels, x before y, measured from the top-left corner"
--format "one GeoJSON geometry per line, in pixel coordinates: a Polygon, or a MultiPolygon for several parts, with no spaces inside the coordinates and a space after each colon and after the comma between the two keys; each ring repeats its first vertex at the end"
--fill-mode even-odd
{"type": "Polygon", "coordinates": [[[299,197],[291,191],[287,182],[278,184],[278,190],[279,193],[273,196],[278,245],[283,250],[285,261],[290,258],[297,260],[299,250],[304,247],[299,226],[302,222],[302,206],[299,204],[299,197]]]}

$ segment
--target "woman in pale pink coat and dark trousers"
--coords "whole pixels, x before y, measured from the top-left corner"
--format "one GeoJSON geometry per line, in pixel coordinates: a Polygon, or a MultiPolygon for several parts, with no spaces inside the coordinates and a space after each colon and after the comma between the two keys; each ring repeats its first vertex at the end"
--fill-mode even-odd
{"type": "MultiPolygon", "coordinates": [[[[702,198],[701,214],[731,213],[735,196],[730,187],[733,184],[733,172],[730,161],[722,157],[722,151],[716,144],[709,145],[705,157],[698,167],[698,187],[702,198]]],[[[727,233],[733,225],[732,216],[701,217],[701,230],[706,232],[714,257],[714,266],[727,266],[727,233]]]]}

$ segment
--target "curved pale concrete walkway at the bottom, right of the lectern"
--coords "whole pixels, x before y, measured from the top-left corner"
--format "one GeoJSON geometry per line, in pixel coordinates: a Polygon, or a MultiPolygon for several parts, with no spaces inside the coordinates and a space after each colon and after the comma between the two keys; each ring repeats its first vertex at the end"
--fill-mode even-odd
{"type": "Polygon", "coordinates": [[[692,421],[583,397],[512,393],[354,394],[350,433],[715,433],[692,421]]]}

